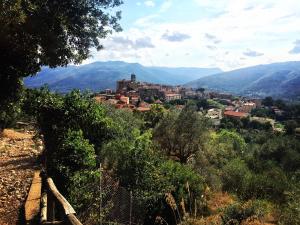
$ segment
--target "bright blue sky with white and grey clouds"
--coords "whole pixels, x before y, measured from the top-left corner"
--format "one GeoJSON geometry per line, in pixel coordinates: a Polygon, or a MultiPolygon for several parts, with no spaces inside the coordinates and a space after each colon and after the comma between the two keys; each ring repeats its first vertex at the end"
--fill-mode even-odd
{"type": "Polygon", "coordinates": [[[219,67],[300,60],[300,0],[124,0],[123,31],[85,63],[219,67]]]}

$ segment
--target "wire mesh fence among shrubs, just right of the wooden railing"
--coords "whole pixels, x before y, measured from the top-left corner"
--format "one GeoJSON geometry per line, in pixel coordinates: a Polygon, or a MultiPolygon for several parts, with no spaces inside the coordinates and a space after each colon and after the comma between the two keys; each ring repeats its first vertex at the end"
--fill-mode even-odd
{"type": "MultiPolygon", "coordinates": [[[[81,187],[81,194],[90,194],[89,202],[78,211],[83,224],[91,225],[138,225],[144,221],[144,207],[134,193],[121,187],[108,171],[101,170],[98,181],[81,187]]],[[[76,196],[79,199],[80,196],[76,196]]]]}

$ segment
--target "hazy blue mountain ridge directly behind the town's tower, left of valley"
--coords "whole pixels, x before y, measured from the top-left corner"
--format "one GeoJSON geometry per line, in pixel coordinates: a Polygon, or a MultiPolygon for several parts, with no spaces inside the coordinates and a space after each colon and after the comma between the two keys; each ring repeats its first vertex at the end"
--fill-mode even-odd
{"type": "Polygon", "coordinates": [[[25,78],[24,83],[30,88],[47,84],[51,90],[58,92],[68,92],[74,88],[100,91],[115,89],[116,81],[129,79],[131,73],[137,75],[138,81],[182,85],[220,72],[218,68],[146,67],[138,63],[108,61],[55,69],[44,67],[37,75],[25,78]]]}

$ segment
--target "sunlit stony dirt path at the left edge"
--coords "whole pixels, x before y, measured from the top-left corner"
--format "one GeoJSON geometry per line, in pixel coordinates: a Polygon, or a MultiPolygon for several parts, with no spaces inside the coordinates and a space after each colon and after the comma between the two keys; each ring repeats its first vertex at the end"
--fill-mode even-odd
{"type": "Polygon", "coordinates": [[[20,224],[34,170],[42,150],[33,131],[4,130],[0,137],[0,225],[20,224]]]}

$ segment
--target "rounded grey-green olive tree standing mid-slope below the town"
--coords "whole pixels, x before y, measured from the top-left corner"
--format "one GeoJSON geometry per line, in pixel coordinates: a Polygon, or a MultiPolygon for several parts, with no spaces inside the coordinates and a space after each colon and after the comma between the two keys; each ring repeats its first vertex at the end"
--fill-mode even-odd
{"type": "Polygon", "coordinates": [[[180,113],[169,112],[154,129],[153,136],[166,155],[187,163],[204,148],[207,134],[207,119],[188,105],[180,113]]]}

